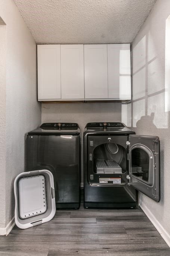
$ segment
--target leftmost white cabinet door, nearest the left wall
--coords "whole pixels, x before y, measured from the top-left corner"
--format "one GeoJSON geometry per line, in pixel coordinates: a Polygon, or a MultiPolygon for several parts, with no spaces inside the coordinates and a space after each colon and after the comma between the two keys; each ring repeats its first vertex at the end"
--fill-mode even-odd
{"type": "Polygon", "coordinates": [[[37,45],[38,100],[61,99],[60,45],[37,45]]]}

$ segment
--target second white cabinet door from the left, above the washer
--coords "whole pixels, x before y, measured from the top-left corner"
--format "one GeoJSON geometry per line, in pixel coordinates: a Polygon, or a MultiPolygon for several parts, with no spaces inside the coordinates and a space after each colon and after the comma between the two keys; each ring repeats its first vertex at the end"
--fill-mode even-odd
{"type": "Polygon", "coordinates": [[[61,45],[61,98],[84,99],[83,45],[61,45]]]}

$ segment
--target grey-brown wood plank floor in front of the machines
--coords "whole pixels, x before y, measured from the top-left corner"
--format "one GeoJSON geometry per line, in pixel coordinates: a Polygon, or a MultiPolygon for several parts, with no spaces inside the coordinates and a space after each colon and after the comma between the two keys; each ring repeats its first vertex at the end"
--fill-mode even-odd
{"type": "Polygon", "coordinates": [[[170,255],[170,248],[140,209],[56,211],[50,222],[16,226],[0,237],[0,255],[170,255]]]}

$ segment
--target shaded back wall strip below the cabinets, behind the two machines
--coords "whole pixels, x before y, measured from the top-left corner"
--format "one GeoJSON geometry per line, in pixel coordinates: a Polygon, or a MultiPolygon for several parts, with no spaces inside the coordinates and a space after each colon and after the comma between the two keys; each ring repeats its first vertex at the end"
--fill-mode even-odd
{"type": "MultiPolygon", "coordinates": [[[[81,129],[81,183],[83,182],[83,130],[90,122],[121,121],[121,103],[43,103],[42,123],[78,123],[81,129]]],[[[83,184],[81,184],[83,185],[83,184]]]]}

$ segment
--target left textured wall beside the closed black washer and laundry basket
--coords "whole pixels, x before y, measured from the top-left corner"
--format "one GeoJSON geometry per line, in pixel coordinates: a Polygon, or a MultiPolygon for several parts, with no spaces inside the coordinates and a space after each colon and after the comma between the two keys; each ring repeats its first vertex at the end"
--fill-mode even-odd
{"type": "MultiPolygon", "coordinates": [[[[14,216],[13,181],[24,171],[25,135],[40,124],[41,105],[37,102],[35,41],[13,0],[0,1],[0,17],[6,23],[6,166],[5,193],[1,194],[5,218],[0,212],[0,234],[5,234],[14,216]]],[[[0,97],[5,100],[4,95],[0,97]]]]}

